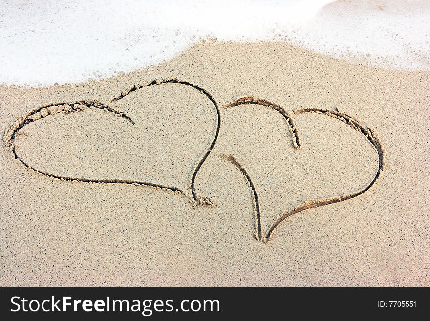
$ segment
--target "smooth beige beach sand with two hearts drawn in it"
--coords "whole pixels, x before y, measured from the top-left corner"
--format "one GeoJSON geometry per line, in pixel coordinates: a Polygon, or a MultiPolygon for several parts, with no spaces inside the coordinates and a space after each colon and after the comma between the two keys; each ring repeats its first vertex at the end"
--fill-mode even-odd
{"type": "Polygon", "coordinates": [[[0,285],[430,285],[429,89],[278,42],[1,87],[0,285]]]}

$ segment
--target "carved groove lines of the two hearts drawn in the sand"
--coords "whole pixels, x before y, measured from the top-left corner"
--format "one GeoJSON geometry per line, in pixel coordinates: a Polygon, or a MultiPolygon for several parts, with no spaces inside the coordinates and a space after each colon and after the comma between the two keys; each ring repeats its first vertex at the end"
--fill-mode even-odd
{"type": "MultiPolygon", "coordinates": [[[[172,97],[170,97],[172,98],[172,97]]],[[[163,98],[164,99],[164,98],[163,98]]],[[[227,104],[224,108],[231,108],[236,107],[240,105],[245,104],[255,104],[260,105],[264,107],[270,107],[273,110],[279,112],[282,117],[284,118],[288,128],[289,132],[291,134],[291,141],[292,145],[295,149],[300,150],[301,147],[301,141],[300,141],[300,129],[296,128],[294,124],[293,118],[290,116],[290,114],[281,106],[271,103],[267,100],[263,99],[255,99],[252,96],[244,97],[241,99],[238,99],[232,103],[227,104]]],[[[162,111],[161,111],[162,112],[162,111]]],[[[333,110],[327,110],[322,108],[306,108],[306,109],[298,109],[293,112],[293,115],[303,114],[303,113],[318,113],[322,114],[328,117],[335,118],[339,120],[340,122],[344,123],[345,125],[356,129],[358,132],[360,132],[367,141],[372,145],[373,149],[378,154],[378,170],[376,172],[376,175],[374,176],[373,180],[369,182],[369,184],[358,191],[351,192],[344,194],[342,196],[336,196],[336,197],[330,197],[330,198],[324,198],[324,199],[310,199],[306,202],[292,208],[288,209],[284,212],[282,212],[270,225],[270,227],[267,229],[267,231],[263,231],[262,225],[261,225],[261,214],[260,214],[260,204],[258,201],[258,194],[256,192],[255,183],[252,180],[252,177],[248,174],[246,170],[246,166],[243,164],[240,164],[235,156],[233,154],[230,155],[221,155],[224,159],[226,159],[228,162],[232,163],[246,178],[249,187],[252,191],[252,196],[254,200],[254,217],[255,217],[255,235],[258,241],[267,243],[271,237],[273,236],[274,231],[277,229],[277,227],[285,221],[286,218],[289,216],[299,213],[301,211],[315,208],[315,207],[321,207],[328,204],[333,203],[339,203],[348,199],[351,199],[353,197],[356,197],[358,195],[361,195],[368,191],[373,185],[375,185],[376,181],[381,175],[381,172],[384,168],[384,151],[381,145],[381,142],[377,135],[370,129],[362,124],[355,118],[341,113],[339,111],[333,111],[333,110]]],[[[143,110],[143,118],[140,119],[140,123],[145,123],[145,110],[143,110]]],[[[180,118],[180,117],[179,117],[180,118]]],[[[174,120],[174,117],[172,118],[174,120]]],[[[203,121],[204,122],[204,121],[203,121]]],[[[151,124],[147,124],[150,126],[151,124]]],[[[167,123],[168,125],[168,123],[167,123]]],[[[158,128],[158,130],[162,130],[158,128]]],[[[24,165],[26,168],[28,168],[30,171],[34,171],[40,174],[43,174],[45,176],[49,176],[51,178],[61,179],[64,181],[78,181],[78,182],[84,182],[84,183],[107,183],[107,184],[132,184],[132,185],[138,185],[138,186],[152,186],[156,188],[161,188],[168,191],[173,191],[175,193],[184,194],[187,197],[189,197],[190,202],[193,204],[193,207],[196,207],[197,205],[215,205],[215,203],[211,202],[206,197],[199,196],[195,193],[195,179],[196,176],[203,165],[203,163],[208,158],[211,151],[214,149],[215,143],[218,138],[218,134],[221,130],[221,114],[220,110],[218,108],[217,103],[215,102],[215,99],[211,96],[211,94],[206,91],[205,89],[196,86],[190,82],[186,81],[180,81],[177,79],[169,79],[169,80],[160,80],[160,81],[151,81],[149,83],[145,83],[142,85],[136,85],[132,86],[130,88],[127,88],[123,90],[121,93],[114,96],[114,98],[109,103],[102,103],[95,100],[82,100],[82,101],[75,101],[75,102],[57,102],[57,103],[50,103],[43,106],[36,107],[21,117],[18,117],[6,130],[3,137],[3,140],[8,146],[15,157],[19,162],[21,162],[22,165],[24,165]],[[87,109],[96,109],[96,110],[103,110],[107,111],[108,113],[117,116],[118,118],[122,118],[128,125],[126,126],[136,126],[137,121],[129,116],[133,113],[133,108],[135,106],[133,105],[133,101],[127,102],[127,99],[131,97],[132,95],[136,95],[140,92],[140,89],[144,88],[154,88],[157,86],[163,86],[163,85],[174,85],[174,86],[186,86],[189,89],[195,90],[198,94],[203,95],[204,99],[206,99],[210,106],[212,107],[212,110],[215,115],[215,120],[210,119],[206,121],[206,123],[212,124],[212,136],[208,137],[206,142],[209,142],[206,146],[201,146],[199,148],[198,152],[195,153],[195,159],[193,159],[193,164],[191,166],[191,171],[187,174],[184,174],[184,177],[187,177],[188,182],[184,183],[185,187],[182,186],[173,186],[172,184],[163,184],[162,182],[156,182],[151,180],[132,180],[132,179],[118,179],[118,178],[91,178],[91,177],[84,177],[84,176],[72,176],[72,175],[62,175],[62,174],[55,174],[51,173],[49,171],[44,171],[38,168],[35,168],[34,166],[29,165],[25,159],[23,159],[20,154],[17,152],[16,145],[15,145],[15,139],[17,135],[20,134],[21,129],[33,122],[38,121],[39,119],[43,119],[47,116],[55,116],[58,114],[72,114],[77,112],[82,112],[87,109]],[[115,104],[112,105],[112,103],[115,104]],[[118,107],[120,106],[120,107],[118,107]],[[127,112],[124,111],[125,109],[127,112]],[[122,109],[122,110],[120,110],[122,109]],[[215,121],[215,124],[213,124],[215,121]]],[[[193,154],[194,155],[194,154],[193,154]]],[[[162,155],[163,156],[163,155],[162,155]]],[[[164,156],[163,156],[164,157],[164,156]]],[[[145,166],[151,166],[151,164],[140,164],[142,167],[145,166]]],[[[190,167],[189,167],[190,168],[190,167]]]]}

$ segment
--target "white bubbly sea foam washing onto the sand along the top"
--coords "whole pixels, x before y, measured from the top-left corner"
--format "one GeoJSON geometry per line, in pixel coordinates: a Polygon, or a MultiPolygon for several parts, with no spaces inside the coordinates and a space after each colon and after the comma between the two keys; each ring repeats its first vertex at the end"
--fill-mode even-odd
{"type": "Polygon", "coordinates": [[[52,86],[175,57],[200,38],[281,40],[399,70],[430,69],[430,1],[1,1],[0,83],[52,86]]]}

